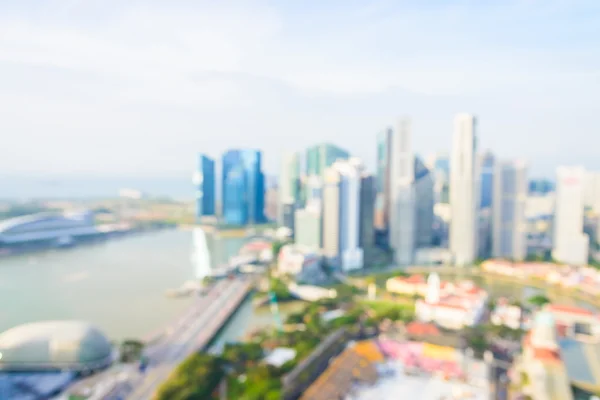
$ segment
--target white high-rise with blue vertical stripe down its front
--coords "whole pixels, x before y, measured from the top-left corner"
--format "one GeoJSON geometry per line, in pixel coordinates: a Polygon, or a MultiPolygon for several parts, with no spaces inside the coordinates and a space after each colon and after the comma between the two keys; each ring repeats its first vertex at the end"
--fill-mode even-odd
{"type": "Polygon", "coordinates": [[[325,171],[323,254],[343,271],[362,268],[360,182],[363,167],[356,158],[336,161],[325,171]]]}

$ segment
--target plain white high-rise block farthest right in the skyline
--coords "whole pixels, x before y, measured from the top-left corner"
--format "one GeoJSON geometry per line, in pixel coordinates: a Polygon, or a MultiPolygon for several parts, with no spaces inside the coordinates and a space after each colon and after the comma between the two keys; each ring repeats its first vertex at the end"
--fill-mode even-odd
{"type": "Polygon", "coordinates": [[[583,232],[585,169],[556,169],[556,206],[554,212],[555,260],[571,265],[588,262],[589,238],[583,232]]]}

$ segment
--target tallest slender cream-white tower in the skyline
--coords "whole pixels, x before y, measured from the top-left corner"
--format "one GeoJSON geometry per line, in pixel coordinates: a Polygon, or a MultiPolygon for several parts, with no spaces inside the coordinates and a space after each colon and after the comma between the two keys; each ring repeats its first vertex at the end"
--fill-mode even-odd
{"type": "Polygon", "coordinates": [[[476,165],[476,119],[470,114],[454,118],[450,158],[450,250],[458,266],[471,265],[477,256],[479,171],[476,165]]]}

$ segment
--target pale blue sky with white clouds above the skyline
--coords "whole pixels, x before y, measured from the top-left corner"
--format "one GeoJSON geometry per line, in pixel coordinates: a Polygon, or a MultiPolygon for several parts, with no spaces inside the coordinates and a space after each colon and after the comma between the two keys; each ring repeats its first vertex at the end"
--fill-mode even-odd
{"type": "Polygon", "coordinates": [[[187,179],[244,147],[275,174],[318,142],[374,168],[399,117],[425,156],[459,112],[532,176],[600,170],[600,2],[0,2],[0,176],[187,179]]]}

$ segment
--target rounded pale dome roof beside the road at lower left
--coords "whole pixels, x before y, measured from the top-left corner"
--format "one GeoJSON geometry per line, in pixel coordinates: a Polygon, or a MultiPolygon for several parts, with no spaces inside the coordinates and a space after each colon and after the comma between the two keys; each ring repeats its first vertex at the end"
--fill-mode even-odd
{"type": "Polygon", "coordinates": [[[112,354],[106,336],[85,322],[34,322],[0,334],[0,369],[96,369],[112,354]]]}

